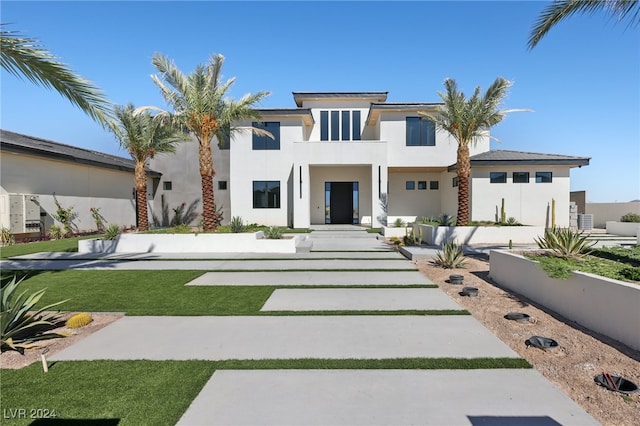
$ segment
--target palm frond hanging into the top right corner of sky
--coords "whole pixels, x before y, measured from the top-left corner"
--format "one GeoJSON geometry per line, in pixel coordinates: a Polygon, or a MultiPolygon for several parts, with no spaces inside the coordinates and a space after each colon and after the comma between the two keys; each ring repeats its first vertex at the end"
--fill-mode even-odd
{"type": "Polygon", "coordinates": [[[605,12],[618,22],[629,19],[628,26],[640,24],[640,2],[638,0],[555,0],[538,16],[531,29],[527,46],[536,47],[538,42],[560,21],[578,13],[605,12]]]}

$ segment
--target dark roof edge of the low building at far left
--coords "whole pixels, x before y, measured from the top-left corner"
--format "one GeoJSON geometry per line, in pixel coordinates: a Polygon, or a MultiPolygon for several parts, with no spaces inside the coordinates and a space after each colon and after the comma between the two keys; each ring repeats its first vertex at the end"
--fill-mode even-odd
{"type": "MultiPolygon", "coordinates": [[[[5,134],[14,134],[14,135],[18,135],[18,136],[20,136],[22,138],[26,138],[26,139],[33,139],[33,140],[43,141],[43,142],[46,142],[47,144],[54,145],[54,146],[58,145],[58,146],[61,146],[61,147],[66,147],[66,148],[72,148],[72,149],[86,151],[86,152],[89,152],[89,153],[91,153],[93,155],[105,156],[107,159],[110,159],[112,161],[98,161],[98,160],[91,160],[91,159],[88,159],[88,158],[78,158],[78,157],[70,155],[70,154],[64,154],[64,153],[55,152],[55,151],[49,151],[49,150],[45,150],[45,149],[41,149],[41,148],[24,146],[23,144],[16,144],[16,143],[12,143],[12,142],[5,141],[5,140],[0,141],[0,150],[1,151],[13,152],[13,153],[16,153],[16,154],[33,155],[33,156],[36,156],[36,157],[42,157],[42,158],[48,158],[48,159],[52,159],[52,160],[65,161],[65,162],[69,162],[69,163],[83,164],[83,165],[86,165],[86,166],[101,167],[101,168],[110,169],[110,170],[119,170],[119,171],[129,172],[129,173],[134,173],[135,172],[135,163],[133,162],[133,160],[129,160],[127,158],[118,157],[118,156],[110,155],[110,154],[104,154],[104,153],[100,153],[100,152],[97,152],[97,151],[83,150],[82,148],[73,147],[71,145],[64,145],[64,144],[61,144],[61,143],[58,143],[58,142],[53,142],[53,141],[46,140],[46,139],[34,138],[34,137],[31,137],[31,136],[22,135],[22,134],[19,134],[19,133],[13,133],[13,132],[9,132],[9,131],[3,130],[2,131],[3,137],[5,137],[5,134]],[[129,164],[127,164],[127,163],[129,163],[129,164]]],[[[154,170],[149,170],[149,169],[146,169],[146,170],[147,170],[147,174],[148,174],[149,177],[159,178],[159,177],[162,176],[162,173],[160,173],[160,172],[156,172],[154,170]]]]}

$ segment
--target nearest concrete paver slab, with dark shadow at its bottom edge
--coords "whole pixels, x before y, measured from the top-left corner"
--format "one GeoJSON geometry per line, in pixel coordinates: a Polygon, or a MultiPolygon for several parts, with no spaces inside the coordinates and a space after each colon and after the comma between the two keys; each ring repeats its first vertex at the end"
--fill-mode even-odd
{"type": "Polygon", "coordinates": [[[527,370],[216,371],[178,425],[597,425],[527,370]]]}

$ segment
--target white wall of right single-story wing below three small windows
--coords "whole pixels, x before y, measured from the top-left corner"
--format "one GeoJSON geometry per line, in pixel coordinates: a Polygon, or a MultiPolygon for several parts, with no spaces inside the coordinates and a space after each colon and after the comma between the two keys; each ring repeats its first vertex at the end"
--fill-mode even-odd
{"type": "Polygon", "coordinates": [[[473,167],[471,220],[500,219],[505,215],[523,225],[551,226],[551,200],[556,200],[556,226],[569,226],[569,168],[561,166],[473,167]],[[507,183],[490,183],[490,172],[507,172],[507,183]],[[513,172],[529,172],[529,183],[513,183],[513,172]],[[551,183],[536,183],[536,172],[552,172],[551,183]]]}

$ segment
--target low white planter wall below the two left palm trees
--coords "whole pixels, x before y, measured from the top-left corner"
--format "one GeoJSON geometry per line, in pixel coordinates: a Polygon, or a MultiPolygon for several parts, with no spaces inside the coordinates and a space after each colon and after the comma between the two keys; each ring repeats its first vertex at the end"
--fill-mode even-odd
{"type": "Polygon", "coordinates": [[[295,253],[307,237],[281,240],[264,238],[264,232],[240,234],[120,234],[113,241],[78,241],[80,253],[295,253]]]}

